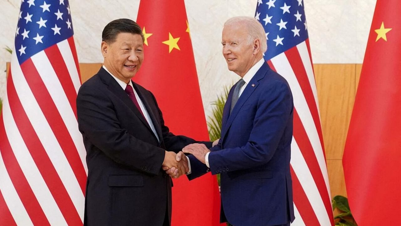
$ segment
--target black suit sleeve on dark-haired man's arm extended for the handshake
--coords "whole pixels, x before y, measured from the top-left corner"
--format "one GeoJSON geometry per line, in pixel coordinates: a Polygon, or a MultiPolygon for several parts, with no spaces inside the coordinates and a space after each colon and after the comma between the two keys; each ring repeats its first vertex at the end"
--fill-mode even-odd
{"type": "Polygon", "coordinates": [[[77,96],[77,116],[84,142],[89,141],[85,146],[93,144],[119,164],[145,173],[159,173],[164,149],[128,134],[117,119],[113,103],[102,90],[85,84],[81,86],[77,96]]]}

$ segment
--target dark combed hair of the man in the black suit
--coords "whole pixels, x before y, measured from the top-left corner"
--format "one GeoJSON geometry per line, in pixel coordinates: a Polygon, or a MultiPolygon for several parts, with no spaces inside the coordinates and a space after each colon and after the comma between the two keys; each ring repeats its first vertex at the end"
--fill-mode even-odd
{"type": "Polygon", "coordinates": [[[103,29],[101,39],[107,43],[113,43],[119,33],[138,34],[141,35],[142,41],[145,41],[141,27],[135,21],[126,18],[108,23],[103,29]]]}

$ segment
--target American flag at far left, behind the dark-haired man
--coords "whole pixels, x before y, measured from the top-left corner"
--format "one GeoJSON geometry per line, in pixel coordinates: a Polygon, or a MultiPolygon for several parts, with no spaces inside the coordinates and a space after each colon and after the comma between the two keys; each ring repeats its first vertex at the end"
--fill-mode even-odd
{"type": "Polygon", "coordinates": [[[0,117],[0,225],[82,225],[87,166],[68,0],[22,0],[0,117]]]}

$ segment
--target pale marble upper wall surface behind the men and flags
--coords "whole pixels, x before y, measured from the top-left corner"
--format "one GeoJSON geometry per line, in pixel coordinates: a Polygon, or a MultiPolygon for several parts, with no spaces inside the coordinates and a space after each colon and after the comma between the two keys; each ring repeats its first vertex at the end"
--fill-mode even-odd
{"type": "MultiPolygon", "coordinates": [[[[99,50],[103,27],[116,18],[136,20],[139,2],[70,0],[79,62],[103,62],[99,50]]],[[[375,3],[375,0],[304,0],[313,62],[362,63],[375,3]]],[[[232,16],[253,16],[257,1],[185,0],[185,4],[203,105],[209,115],[210,103],[224,86],[239,79],[227,70],[221,53],[223,23],[232,16]]],[[[4,47],[13,48],[19,8],[20,0],[0,1],[0,97],[4,97],[6,90],[4,71],[11,58],[4,47]]]]}

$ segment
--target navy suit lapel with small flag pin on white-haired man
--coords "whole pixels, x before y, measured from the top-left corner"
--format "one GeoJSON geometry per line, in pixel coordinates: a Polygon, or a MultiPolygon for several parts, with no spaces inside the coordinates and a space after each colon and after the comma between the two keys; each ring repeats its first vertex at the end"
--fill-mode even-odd
{"type": "Polygon", "coordinates": [[[233,123],[238,112],[241,110],[241,107],[244,105],[244,103],[247,101],[247,99],[249,99],[249,97],[251,97],[253,91],[255,91],[257,86],[259,86],[259,80],[261,80],[262,78],[265,77],[265,74],[269,69],[270,68],[267,65],[267,63],[263,64],[261,66],[261,68],[259,68],[259,70],[256,72],[255,76],[253,76],[253,78],[249,81],[249,84],[247,84],[247,86],[245,87],[245,90],[243,90],[241,96],[239,97],[237,103],[235,104],[233,111],[231,112],[230,115],[228,115],[230,112],[229,109],[231,107],[230,105],[231,105],[231,99],[232,99],[232,95],[233,95],[232,92],[230,92],[230,96],[229,96],[230,100],[227,99],[227,102],[224,106],[224,110],[225,111],[228,110],[228,113],[226,113],[226,115],[225,115],[226,117],[228,116],[228,119],[224,120],[224,116],[223,116],[223,122],[224,121],[227,121],[227,122],[224,125],[222,125],[222,127],[223,127],[222,132],[221,132],[222,139],[224,139],[228,129],[231,126],[231,123],[233,123]],[[226,109],[226,108],[228,108],[228,109],[226,109]]]}

